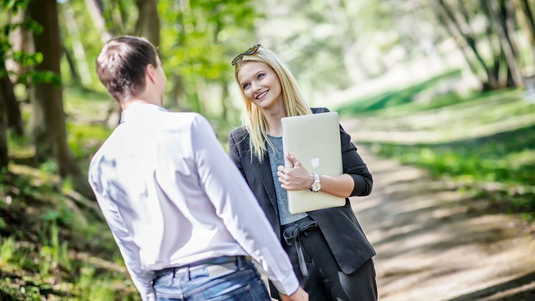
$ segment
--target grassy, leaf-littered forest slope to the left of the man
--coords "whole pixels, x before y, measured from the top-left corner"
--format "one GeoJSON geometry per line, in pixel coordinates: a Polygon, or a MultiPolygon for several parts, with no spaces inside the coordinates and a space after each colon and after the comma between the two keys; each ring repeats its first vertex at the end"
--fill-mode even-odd
{"type": "MultiPolygon", "coordinates": [[[[86,122],[105,113],[98,106],[110,100],[101,96],[66,89],[68,144],[83,171],[111,133],[86,122]]],[[[28,138],[8,136],[11,163],[0,175],[0,300],[139,299],[96,204],[71,193],[55,161],[33,166],[28,138]]]]}

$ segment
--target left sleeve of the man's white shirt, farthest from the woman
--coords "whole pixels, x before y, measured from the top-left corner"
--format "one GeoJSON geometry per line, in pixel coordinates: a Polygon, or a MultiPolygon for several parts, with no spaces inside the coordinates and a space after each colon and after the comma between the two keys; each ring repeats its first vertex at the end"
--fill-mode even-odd
{"type": "Polygon", "coordinates": [[[119,250],[126,264],[126,269],[128,270],[135,287],[140,292],[141,299],[143,301],[156,301],[156,292],[152,288],[154,272],[144,271],[141,268],[139,246],[134,243],[132,235],[125,226],[118,205],[113,202],[105,192],[108,191],[108,189],[113,188],[104,187],[109,185],[109,181],[102,181],[100,175],[101,170],[102,166],[96,168],[95,166],[91,166],[89,168],[89,184],[91,185],[91,188],[93,188],[98,205],[110,227],[114,240],[119,246],[119,250]]]}

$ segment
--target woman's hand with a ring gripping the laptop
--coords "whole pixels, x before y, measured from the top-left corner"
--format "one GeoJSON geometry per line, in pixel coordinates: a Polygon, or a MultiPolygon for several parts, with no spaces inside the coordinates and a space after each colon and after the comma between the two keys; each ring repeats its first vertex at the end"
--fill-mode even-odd
{"type": "Polygon", "coordinates": [[[314,183],[314,175],[309,173],[307,169],[303,167],[301,162],[297,160],[290,153],[286,153],[286,158],[293,164],[294,167],[277,167],[277,175],[279,176],[279,182],[282,188],[286,190],[303,190],[309,189],[314,183]]]}

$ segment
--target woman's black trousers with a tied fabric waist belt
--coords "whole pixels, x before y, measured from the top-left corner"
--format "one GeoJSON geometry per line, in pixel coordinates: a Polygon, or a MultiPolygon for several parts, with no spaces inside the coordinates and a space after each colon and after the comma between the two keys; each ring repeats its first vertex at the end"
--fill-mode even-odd
{"type": "MultiPolygon", "coordinates": [[[[286,233],[285,236],[292,236],[291,234],[298,236],[295,240],[290,240],[291,245],[285,238],[282,238],[281,243],[292,262],[301,287],[309,294],[309,300],[376,301],[377,283],[373,260],[366,261],[351,274],[343,273],[321,229],[315,228],[314,225],[312,218],[304,217],[281,226],[282,233],[286,233]],[[301,247],[301,265],[296,244],[300,244],[301,247]]],[[[271,283],[270,291],[272,298],[280,300],[277,289],[271,283]]]]}

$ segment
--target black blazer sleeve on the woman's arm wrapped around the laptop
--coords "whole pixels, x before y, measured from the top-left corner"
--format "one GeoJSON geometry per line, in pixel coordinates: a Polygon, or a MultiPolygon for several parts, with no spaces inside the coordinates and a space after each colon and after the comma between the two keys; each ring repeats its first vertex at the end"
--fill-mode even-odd
{"type": "MultiPolygon", "coordinates": [[[[329,112],[326,107],[314,109],[315,113],[329,112]]],[[[350,197],[367,196],[371,194],[373,179],[368,171],[368,166],[358,155],[355,144],[351,143],[351,136],[340,126],[340,144],[342,148],[343,173],[353,178],[354,186],[350,197]]]]}

